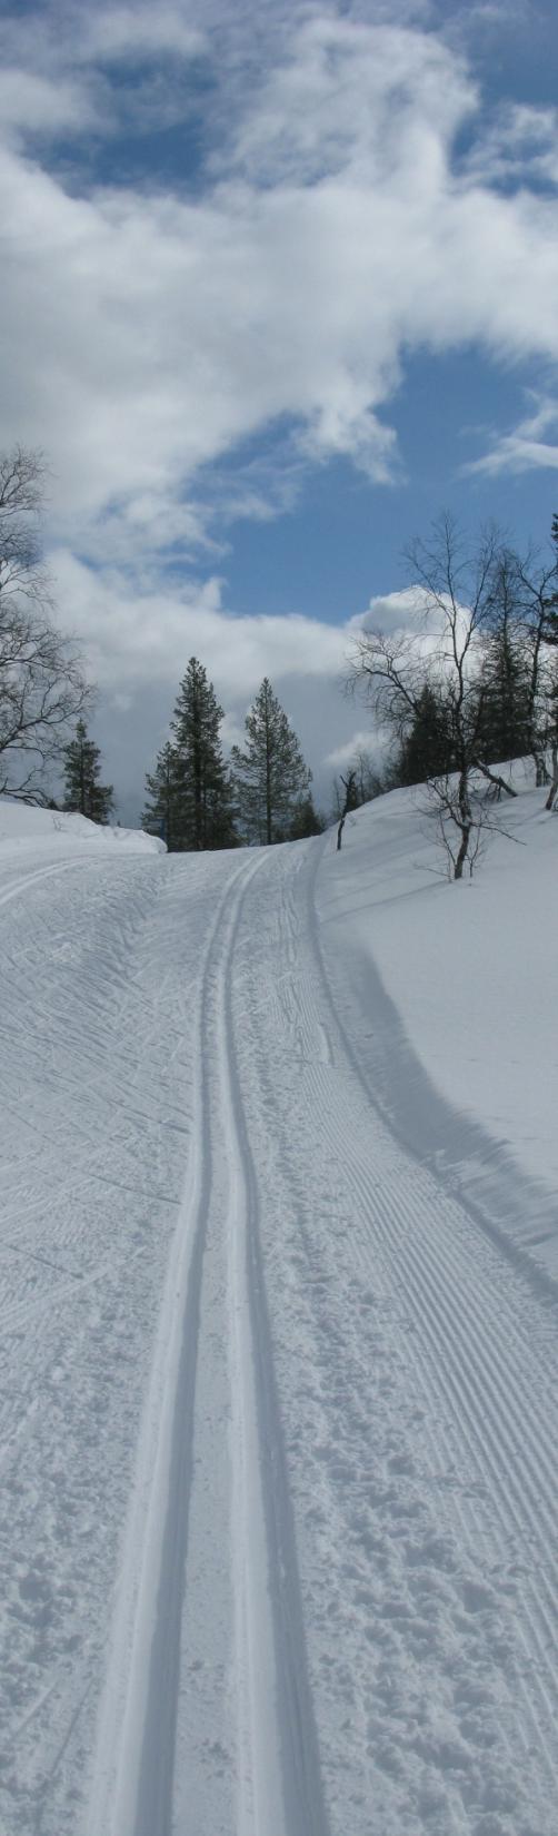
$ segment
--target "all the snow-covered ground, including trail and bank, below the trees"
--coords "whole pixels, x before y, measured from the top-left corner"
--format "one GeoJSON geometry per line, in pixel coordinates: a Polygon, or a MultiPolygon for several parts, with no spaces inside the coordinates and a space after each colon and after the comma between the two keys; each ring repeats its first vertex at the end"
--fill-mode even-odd
{"type": "Polygon", "coordinates": [[[6,1836],[554,1836],[540,804],[463,887],[409,793],[0,804],[6,1836]]]}

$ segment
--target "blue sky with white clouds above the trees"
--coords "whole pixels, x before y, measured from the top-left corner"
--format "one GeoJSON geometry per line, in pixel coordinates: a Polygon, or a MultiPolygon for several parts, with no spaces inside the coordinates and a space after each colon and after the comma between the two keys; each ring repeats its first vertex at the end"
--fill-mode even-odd
{"type": "Polygon", "coordinates": [[[2,450],[48,461],[123,821],[193,654],[226,744],[272,677],[327,806],[371,731],[351,637],[409,540],[450,510],[547,543],[552,15],[4,0],[2,450]]]}

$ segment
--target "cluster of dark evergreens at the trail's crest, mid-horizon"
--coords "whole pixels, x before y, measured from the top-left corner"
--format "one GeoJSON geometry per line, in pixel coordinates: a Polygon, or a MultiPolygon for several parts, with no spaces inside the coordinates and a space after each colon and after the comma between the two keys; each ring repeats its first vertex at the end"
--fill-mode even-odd
{"type": "Polygon", "coordinates": [[[141,826],[167,848],[235,848],[318,835],[308,771],[285,709],[264,677],[246,714],[244,747],[224,760],[224,709],[198,657],[178,688],[171,738],[147,775],[141,826]]]}

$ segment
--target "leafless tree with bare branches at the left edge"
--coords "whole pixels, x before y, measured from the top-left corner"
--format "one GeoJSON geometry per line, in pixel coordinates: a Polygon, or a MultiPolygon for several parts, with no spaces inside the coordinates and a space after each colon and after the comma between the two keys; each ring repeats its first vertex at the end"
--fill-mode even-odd
{"type": "Polygon", "coordinates": [[[0,457],[0,793],[44,802],[44,775],[61,758],[90,688],[70,639],[51,621],[40,558],[40,453],[0,457]]]}

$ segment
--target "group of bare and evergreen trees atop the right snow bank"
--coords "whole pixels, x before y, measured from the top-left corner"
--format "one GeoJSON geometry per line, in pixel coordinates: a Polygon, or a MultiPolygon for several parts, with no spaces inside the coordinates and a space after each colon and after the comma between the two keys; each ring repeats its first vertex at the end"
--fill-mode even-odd
{"type": "Polygon", "coordinates": [[[530,756],[547,810],[558,799],[558,518],[547,562],[494,529],[468,549],[442,518],[430,543],[413,543],[409,567],[422,622],[363,630],[352,687],[389,740],[382,788],[428,786],[459,879],[490,826],[488,799],[516,795],[497,767],[530,756]]]}

